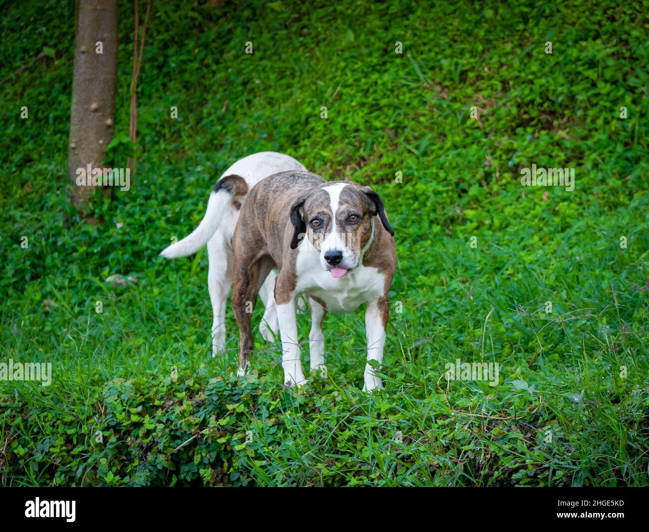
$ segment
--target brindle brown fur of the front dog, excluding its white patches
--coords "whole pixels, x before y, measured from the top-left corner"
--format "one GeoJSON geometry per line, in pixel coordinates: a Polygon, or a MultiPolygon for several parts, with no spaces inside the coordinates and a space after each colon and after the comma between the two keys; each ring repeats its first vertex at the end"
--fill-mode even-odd
{"type": "MultiPolygon", "coordinates": [[[[251,308],[258,291],[271,269],[276,268],[275,300],[278,305],[288,303],[295,296],[295,263],[298,249],[291,247],[296,233],[304,232],[310,219],[316,214],[323,220],[326,231],[334,213],[330,210],[330,197],[323,187],[336,182],[326,182],[321,176],[306,171],[289,171],[271,175],[249,192],[239,221],[234,230],[232,251],[234,253],[234,280],[232,286],[232,309],[239,326],[239,367],[245,368],[253,350],[251,330],[251,308]],[[291,211],[296,213],[291,222],[291,211]],[[250,302],[250,303],[249,303],[250,302]]],[[[384,295],[378,301],[384,328],[389,316],[389,287],[397,265],[393,232],[384,212],[379,213],[375,193],[370,187],[361,187],[352,182],[341,191],[338,219],[345,219],[347,213],[360,212],[360,223],[346,231],[345,237],[360,252],[371,236],[371,217],[380,214],[374,223],[374,239],[363,256],[364,266],[375,267],[386,278],[384,295]],[[386,229],[386,226],[388,229],[386,229]]],[[[378,197],[378,196],[377,196],[378,197]]],[[[379,198],[380,202],[380,198],[379,198]]],[[[382,211],[382,202],[380,210],[382,211]]],[[[306,237],[319,250],[321,240],[312,228],[306,230],[306,237]]],[[[313,298],[326,311],[324,302],[313,298]]]]}

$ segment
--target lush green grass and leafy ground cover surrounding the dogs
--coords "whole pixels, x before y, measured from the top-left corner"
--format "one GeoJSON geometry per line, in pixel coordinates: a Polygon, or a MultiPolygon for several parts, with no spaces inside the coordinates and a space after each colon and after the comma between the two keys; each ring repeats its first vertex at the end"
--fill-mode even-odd
{"type": "Polygon", "coordinates": [[[0,382],[0,483],[649,485],[640,4],[174,4],[154,3],[147,31],[138,175],[93,198],[98,225],[66,197],[74,5],[3,4],[0,78],[43,47],[55,58],[0,86],[0,361],[51,362],[54,378],[0,382]],[[262,150],[386,203],[402,311],[382,393],[360,391],[361,310],[326,318],[328,376],[301,393],[256,331],[258,372],[239,380],[229,304],[227,355],[210,356],[206,253],[157,256],[217,176],[262,150]],[[521,187],[532,164],[574,167],[575,190],[521,187]],[[447,381],[458,358],[498,363],[498,385],[447,381]]]}

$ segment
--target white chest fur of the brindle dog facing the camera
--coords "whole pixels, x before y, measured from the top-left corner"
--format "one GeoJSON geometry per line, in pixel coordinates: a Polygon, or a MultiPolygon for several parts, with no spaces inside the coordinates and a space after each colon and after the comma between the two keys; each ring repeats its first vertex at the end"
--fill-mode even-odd
{"type": "Polygon", "coordinates": [[[386,278],[378,269],[359,265],[341,278],[324,271],[319,254],[300,246],[295,265],[298,294],[313,296],[330,312],[353,312],[361,304],[383,295],[386,278]]]}

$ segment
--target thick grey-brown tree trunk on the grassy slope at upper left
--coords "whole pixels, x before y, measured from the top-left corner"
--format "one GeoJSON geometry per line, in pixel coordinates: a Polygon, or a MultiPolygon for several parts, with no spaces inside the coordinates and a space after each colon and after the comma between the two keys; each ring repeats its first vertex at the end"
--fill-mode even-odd
{"type": "Polygon", "coordinates": [[[77,184],[78,170],[101,167],[113,137],[117,0],[78,0],[77,10],[67,174],[71,199],[79,205],[87,202],[93,187],[83,179],[77,184]]]}

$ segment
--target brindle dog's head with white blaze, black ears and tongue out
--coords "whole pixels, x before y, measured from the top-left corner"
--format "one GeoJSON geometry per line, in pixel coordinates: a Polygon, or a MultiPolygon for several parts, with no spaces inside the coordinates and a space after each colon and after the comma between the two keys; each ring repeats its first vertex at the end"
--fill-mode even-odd
{"type": "Polygon", "coordinates": [[[291,207],[291,249],[297,248],[306,234],[312,250],[320,254],[323,269],[336,278],[342,277],[360,264],[362,253],[377,230],[377,215],[386,231],[394,236],[383,201],[370,187],[349,182],[324,183],[291,207]]]}

